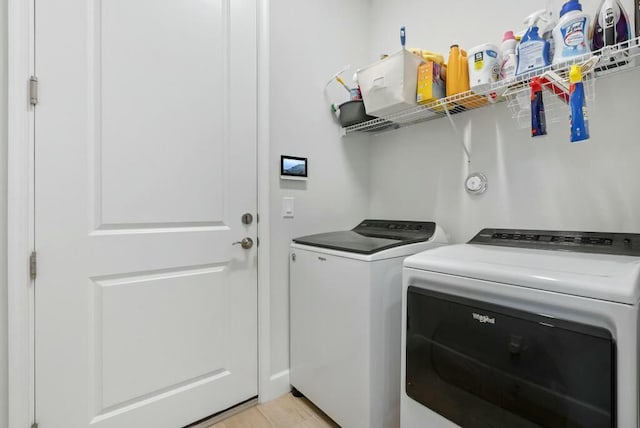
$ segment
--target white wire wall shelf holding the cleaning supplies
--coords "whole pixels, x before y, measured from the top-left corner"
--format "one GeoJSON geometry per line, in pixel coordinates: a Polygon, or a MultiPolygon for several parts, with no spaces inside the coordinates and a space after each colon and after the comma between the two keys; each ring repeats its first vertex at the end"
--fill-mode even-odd
{"type": "MultiPolygon", "coordinates": [[[[528,128],[531,126],[531,103],[529,98],[529,83],[531,79],[540,77],[548,72],[554,72],[568,81],[569,70],[574,64],[583,65],[587,103],[593,104],[596,79],[640,66],[640,37],[614,46],[607,46],[587,55],[567,59],[560,64],[539,68],[511,79],[495,82],[486,91],[486,94],[491,95],[476,94],[472,91],[463,92],[343,128],[343,134],[349,135],[359,132],[382,133],[447,116],[452,119],[452,115],[457,113],[482,108],[502,101],[506,101],[517,126],[523,129],[528,128]],[[593,58],[599,59],[595,65],[591,64],[593,58]]],[[[565,119],[568,115],[567,104],[561,97],[549,91],[544,91],[544,102],[545,115],[548,122],[565,119]]]]}

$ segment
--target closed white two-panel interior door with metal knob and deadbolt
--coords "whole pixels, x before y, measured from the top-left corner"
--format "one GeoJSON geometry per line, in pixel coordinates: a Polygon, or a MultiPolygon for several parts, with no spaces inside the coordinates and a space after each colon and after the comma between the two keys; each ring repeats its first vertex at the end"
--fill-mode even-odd
{"type": "Polygon", "coordinates": [[[36,4],[36,418],[257,395],[255,0],[36,4]]]}

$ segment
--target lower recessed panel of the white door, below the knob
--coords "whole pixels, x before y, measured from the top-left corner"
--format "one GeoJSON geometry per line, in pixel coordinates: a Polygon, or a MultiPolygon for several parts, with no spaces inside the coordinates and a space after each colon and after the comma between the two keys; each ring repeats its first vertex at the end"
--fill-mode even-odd
{"type": "Polygon", "coordinates": [[[228,357],[218,346],[226,333],[219,317],[228,318],[221,305],[224,271],[215,266],[96,281],[101,316],[94,331],[104,382],[96,392],[105,408],[226,371],[228,357]]]}

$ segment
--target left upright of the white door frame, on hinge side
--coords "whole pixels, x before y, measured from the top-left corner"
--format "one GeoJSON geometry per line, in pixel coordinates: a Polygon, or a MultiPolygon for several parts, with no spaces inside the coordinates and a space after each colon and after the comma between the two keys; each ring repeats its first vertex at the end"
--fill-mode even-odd
{"type": "Polygon", "coordinates": [[[9,426],[29,427],[34,412],[33,125],[28,81],[34,70],[34,0],[8,2],[9,426]]]}

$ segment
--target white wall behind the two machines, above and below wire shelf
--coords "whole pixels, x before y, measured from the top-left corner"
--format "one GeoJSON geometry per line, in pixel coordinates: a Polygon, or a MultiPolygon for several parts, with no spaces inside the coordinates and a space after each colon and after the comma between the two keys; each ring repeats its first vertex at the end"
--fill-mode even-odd
{"type": "MultiPolygon", "coordinates": [[[[585,10],[595,3],[587,2],[585,10]]],[[[504,30],[518,29],[513,23],[544,6],[501,0],[489,10],[486,4],[451,0],[447,5],[458,11],[452,21],[446,12],[434,19],[434,8],[420,0],[374,0],[371,55],[398,49],[400,25],[407,26],[412,47],[445,52],[453,43],[500,43],[504,30]]],[[[470,164],[446,119],[374,137],[371,215],[433,219],[454,242],[483,227],[640,232],[637,109],[627,96],[639,77],[633,70],[597,82],[592,138],[581,144],[569,143],[565,117],[549,126],[548,136],[532,139],[504,103],[454,116],[471,147],[470,164]],[[463,187],[475,171],[489,180],[482,196],[463,187]]]]}

